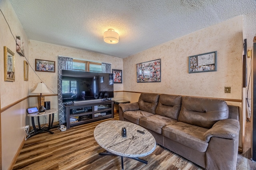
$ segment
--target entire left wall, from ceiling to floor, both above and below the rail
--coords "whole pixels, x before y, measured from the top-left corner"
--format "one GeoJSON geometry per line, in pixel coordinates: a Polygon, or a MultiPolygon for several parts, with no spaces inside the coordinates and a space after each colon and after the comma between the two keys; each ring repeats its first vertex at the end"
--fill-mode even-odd
{"type": "Polygon", "coordinates": [[[2,168],[8,169],[25,137],[26,109],[28,108],[28,81],[24,81],[24,60],[16,53],[16,36],[22,37],[28,58],[28,38],[8,0],[0,0],[0,102],[2,168]],[[6,18],[10,29],[4,19],[6,18]],[[4,81],[4,46],[15,53],[15,81],[4,81]],[[21,100],[21,102],[18,102],[21,100]],[[15,104],[18,102],[18,104],[15,104]],[[12,106],[9,108],[9,106],[12,106]],[[5,111],[4,111],[5,110],[5,111]]]}

